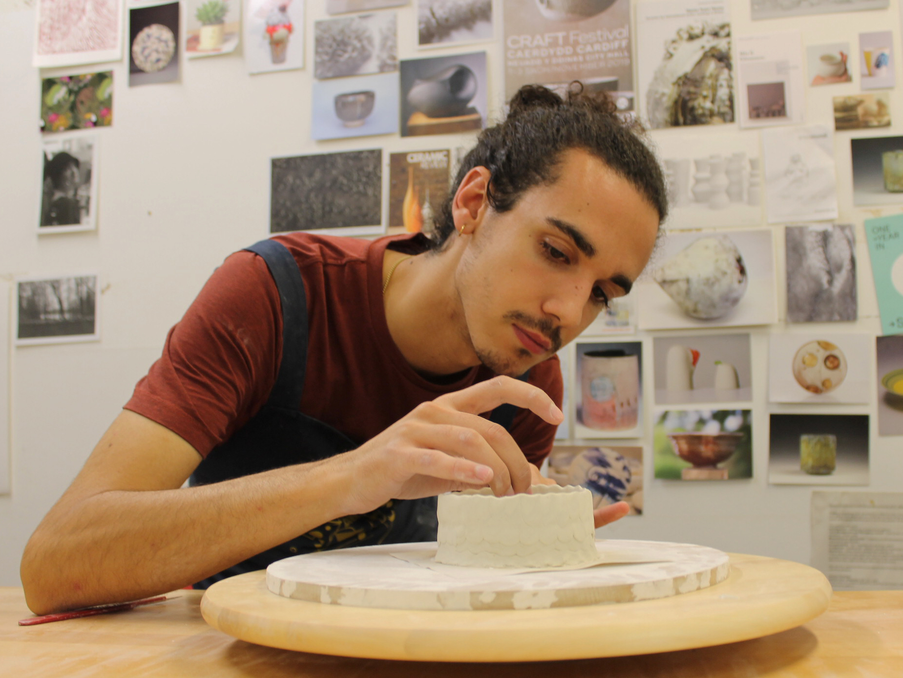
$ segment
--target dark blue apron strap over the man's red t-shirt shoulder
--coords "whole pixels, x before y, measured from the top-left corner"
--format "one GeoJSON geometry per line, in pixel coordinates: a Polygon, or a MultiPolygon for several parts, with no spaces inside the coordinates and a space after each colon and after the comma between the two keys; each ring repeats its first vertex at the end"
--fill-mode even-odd
{"type": "Polygon", "coordinates": [[[307,371],[307,297],[301,269],[277,240],[261,240],[245,248],[262,257],[279,290],[283,314],[283,354],[267,405],[297,411],[307,371]]]}

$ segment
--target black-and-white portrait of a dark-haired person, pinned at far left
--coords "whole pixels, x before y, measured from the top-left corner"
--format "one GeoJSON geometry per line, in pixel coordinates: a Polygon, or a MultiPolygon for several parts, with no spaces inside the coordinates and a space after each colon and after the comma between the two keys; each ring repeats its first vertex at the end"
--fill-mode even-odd
{"type": "Polygon", "coordinates": [[[43,142],[39,233],[97,226],[98,137],[75,134],[43,142]]]}

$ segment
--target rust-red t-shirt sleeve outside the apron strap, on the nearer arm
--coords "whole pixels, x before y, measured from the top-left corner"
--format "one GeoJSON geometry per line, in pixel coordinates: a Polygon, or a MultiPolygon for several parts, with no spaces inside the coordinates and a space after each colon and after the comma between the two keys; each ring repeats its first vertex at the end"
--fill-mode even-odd
{"type": "Polygon", "coordinates": [[[265,261],[237,252],[214,271],[126,410],[169,428],[206,457],[247,423],[275,383],[282,311],[265,261]]]}

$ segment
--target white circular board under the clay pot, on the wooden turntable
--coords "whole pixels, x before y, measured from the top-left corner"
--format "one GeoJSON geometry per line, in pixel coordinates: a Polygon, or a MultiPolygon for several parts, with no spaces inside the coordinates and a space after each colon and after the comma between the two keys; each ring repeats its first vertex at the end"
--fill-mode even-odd
{"type": "Polygon", "coordinates": [[[321,551],[273,563],[266,587],[285,598],[352,607],[545,609],[666,598],[710,587],[730,572],[726,553],[694,544],[604,540],[596,548],[618,564],[517,574],[453,566],[437,571],[392,555],[434,553],[435,542],[321,551]]]}

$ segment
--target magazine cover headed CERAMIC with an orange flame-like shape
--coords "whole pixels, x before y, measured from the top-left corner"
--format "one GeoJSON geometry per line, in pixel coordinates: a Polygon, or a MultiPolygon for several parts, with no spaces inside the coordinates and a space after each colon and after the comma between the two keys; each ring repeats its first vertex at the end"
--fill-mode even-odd
{"type": "Polygon", "coordinates": [[[449,149],[389,155],[389,227],[433,232],[449,192],[449,149]]]}

